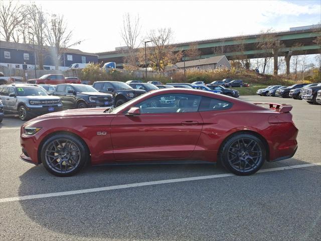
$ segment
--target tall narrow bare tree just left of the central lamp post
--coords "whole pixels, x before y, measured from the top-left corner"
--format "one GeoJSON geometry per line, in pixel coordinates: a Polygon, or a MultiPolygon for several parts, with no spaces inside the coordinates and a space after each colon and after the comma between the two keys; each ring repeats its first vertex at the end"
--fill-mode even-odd
{"type": "Polygon", "coordinates": [[[129,13],[126,13],[123,16],[123,28],[120,36],[128,47],[129,55],[126,56],[125,61],[131,66],[136,66],[137,63],[135,49],[141,44],[141,41],[138,40],[140,30],[141,26],[139,24],[139,15],[133,19],[129,13]]]}

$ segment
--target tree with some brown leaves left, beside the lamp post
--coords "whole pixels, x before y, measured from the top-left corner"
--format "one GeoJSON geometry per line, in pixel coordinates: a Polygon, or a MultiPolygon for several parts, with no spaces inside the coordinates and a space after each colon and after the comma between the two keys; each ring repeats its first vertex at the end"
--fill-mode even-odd
{"type": "MultiPolygon", "coordinates": [[[[175,64],[182,59],[182,51],[175,51],[171,46],[173,32],[171,28],[151,30],[148,39],[152,47],[146,49],[147,61],[158,71],[165,71],[167,66],[175,64]]],[[[144,63],[144,49],[139,49],[138,59],[144,63]]]]}

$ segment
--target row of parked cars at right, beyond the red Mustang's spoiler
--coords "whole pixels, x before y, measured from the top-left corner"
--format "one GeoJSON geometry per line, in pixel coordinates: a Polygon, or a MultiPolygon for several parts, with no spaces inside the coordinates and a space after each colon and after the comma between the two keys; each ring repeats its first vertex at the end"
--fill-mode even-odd
{"type": "Polygon", "coordinates": [[[258,89],[256,94],[283,98],[303,99],[310,104],[321,104],[321,83],[293,84],[291,86],[270,85],[258,89]]]}

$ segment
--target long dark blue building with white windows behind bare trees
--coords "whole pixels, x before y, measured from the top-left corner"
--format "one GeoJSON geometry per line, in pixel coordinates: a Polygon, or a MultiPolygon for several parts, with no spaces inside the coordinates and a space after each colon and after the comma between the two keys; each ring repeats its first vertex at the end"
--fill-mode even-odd
{"type": "MultiPolygon", "coordinates": [[[[39,55],[41,50],[38,45],[35,49],[32,44],[21,44],[0,41],[0,65],[17,69],[34,69],[35,62],[39,68],[39,55]],[[36,54],[36,57],[35,57],[36,54]]],[[[42,51],[44,69],[56,69],[58,61],[59,70],[66,70],[74,63],[97,63],[96,54],[85,53],[79,49],[66,49],[59,59],[55,57],[53,47],[44,46],[42,51]]]]}

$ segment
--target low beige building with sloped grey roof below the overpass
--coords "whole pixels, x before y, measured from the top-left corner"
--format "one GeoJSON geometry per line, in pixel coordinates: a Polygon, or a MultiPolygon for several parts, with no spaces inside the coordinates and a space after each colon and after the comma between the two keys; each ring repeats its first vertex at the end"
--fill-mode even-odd
{"type": "MultiPolygon", "coordinates": [[[[184,69],[184,62],[178,62],[175,66],[179,69],[184,69]]],[[[231,69],[231,64],[225,57],[225,55],[214,56],[206,59],[197,59],[185,61],[185,69],[217,69],[217,68],[228,68],[231,69]]]]}

